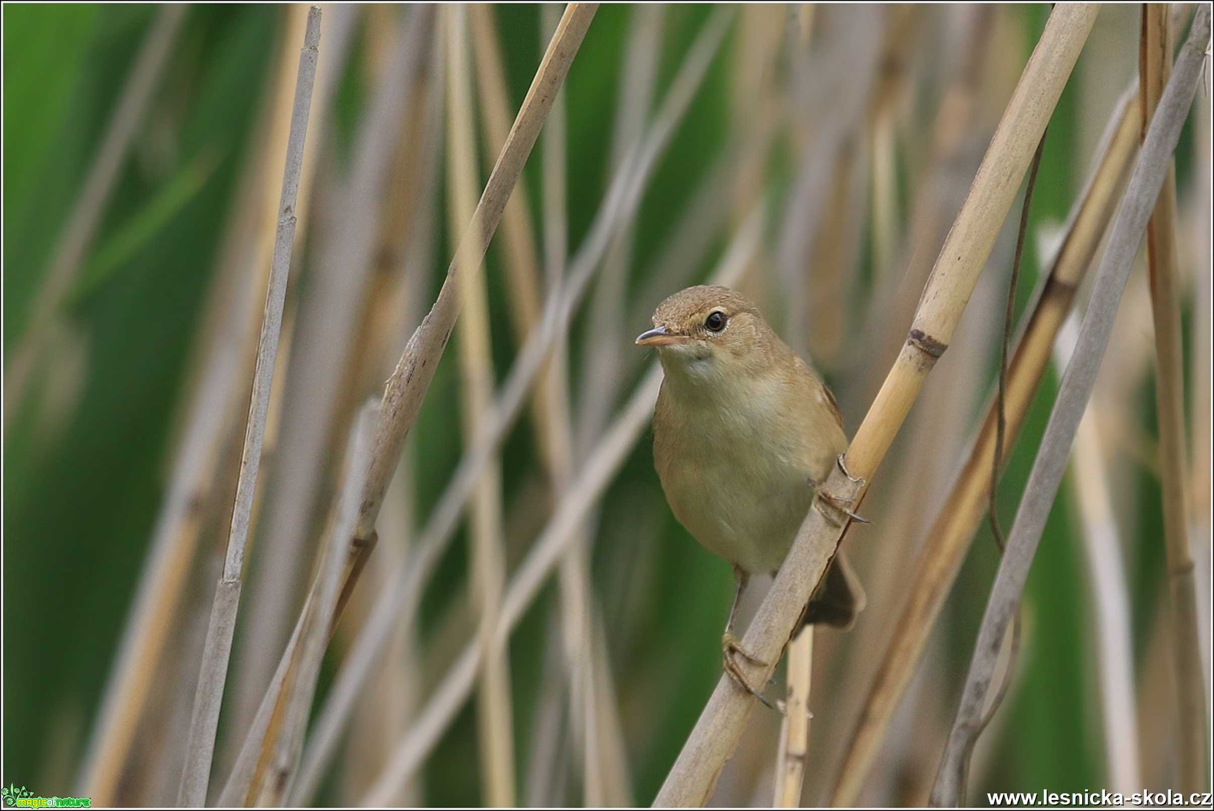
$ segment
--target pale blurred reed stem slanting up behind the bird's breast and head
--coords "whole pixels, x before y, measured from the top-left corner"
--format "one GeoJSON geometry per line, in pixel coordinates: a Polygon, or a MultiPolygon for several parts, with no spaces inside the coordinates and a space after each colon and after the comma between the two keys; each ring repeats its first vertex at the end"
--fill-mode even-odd
{"type": "MultiPolygon", "coordinates": [[[[758,249],[762,214],[760,205],[738,232],[717,272],[713,274],[714,284],[734,284],[741,277],[758,249]]],[[[579,470],[556,512],[511,578],[495,629],[503,641],[509,639],[534,601],[571,540],[577,537],[578,527],[612,482],[641,430],[648,424],[660,384],[662,370],[653,363],[620,415],[579,470]]],[[[413,776],[467,699],[481,663],[481,647],[475,642],[465,646],[456,663],[441,680],[438,691],[398,742],[387,769],[363,798],[363,805],[382,805],[384,798],[390,796],[413,776]]]]}

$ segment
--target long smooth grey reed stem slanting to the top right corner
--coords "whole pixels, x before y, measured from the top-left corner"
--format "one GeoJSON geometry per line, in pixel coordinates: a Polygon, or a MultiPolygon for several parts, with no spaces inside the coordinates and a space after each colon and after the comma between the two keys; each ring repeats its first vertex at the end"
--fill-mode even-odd
{"type": "MultiPolygon", "coordinates": [[[[1042,437],[1040,449],[1033,463],[1023,498],[1016,511],[1016,520],[1008,535],[1006,550],[999,563],[991,597],[978,629],[974,657],[970,662],[965,690],[961,694],[957,718],[944,749],[944,756],[936,773],[932,788],[935,805],[957,805],[964,800],[965,772],[974,742],[981,732],[981,719],[994,677],[995,663],[1003,647],[1003,639],[1015,616],[1040,541],[1042,528],[1057,493],[1066,467],[1071,443],[1083,416],[1100,361],[1104,357],[1122,290],[1129,278],[1138,246],[1147,220],[1155,209],[1159,189],[1172,168],[1172,154],[1180,140],[1180,129],[1187,118],[1189,107],[1197,83],[1204,46],[1209,39],[1209,6],[1201,6],[1193,22],[1189,42],[1172,80],[1159,101],[1151,127],[1142,142],[1138,163],[1130,175],[1125,195],[1110,231],[1108,243],[1097,267],[1095,284],[1079,330],[1076,352],[1067,367],[1059,389],[1057,399],[1050,413],[1050,421],[1042,437]]],[[[1189,580],[1192,583],[1192,580],[1189,580]]],[[[1190,605],[1193,594],[1189,592],[1190,605]]],[[[1196,618],[1195,618],[1196,619],[1196,618]]],[[[1195,628],[1196,622],[1189,628],[1195,628]]],[[[1196,650],[1196,640],[1189,645],[1196,650]]],[[[1201,684],[1199,663],[1193,669],[1201,684]]],[[[1198,693],[1199,696],[1199,693],[1198,693]]],[[[1182,701],[1191,701],[1184,697],[1182,701]]],[[[1203,701],[1199,698],[1198,701],[1203,701]]],[[[1195,708],[1201,710],[1202,704],[1195,708]]],[[[1201,713],[1203,716],[1203,713],[1201,713]]]]}

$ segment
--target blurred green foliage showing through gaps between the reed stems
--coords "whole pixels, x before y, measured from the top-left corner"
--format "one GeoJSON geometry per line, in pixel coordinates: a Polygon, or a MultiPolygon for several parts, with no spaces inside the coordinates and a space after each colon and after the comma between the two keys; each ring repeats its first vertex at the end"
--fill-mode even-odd
{"type": "MultiPolygon", "coordinates": [[[[6,355],[30,328],[33,297],[44,282],[135,55],[159,11],[157,6],[135,5],[6,4],[4,7],[6,355]]],[[[540,56],[539,13],[528,5],[503,5],[495,11],[510,95],[512,103],[517,103],[540,56]]],[[[176,448],[175,431],[180,430],[189,393],[192,353],[199,351],[202,340],[203,306],[217,272],[219,249],[240,174],[256,153],[255,123],[267,103],[266,75],[276,49],[282,47],[278,40],[284,13],[283,6],[189,8],[104,205],[79,278],[59,305],[67,329],[39,357],[32,395],[6,420],[0,772],[5,784],[24,783],[44,795],[63,795],[76,779],[161,505],[176,448]]],[[[566,85],[571,254],[586,234],[611,178],[611,136],[618,115],[619,72],[631,13],[629,6],[618,5],[605,5],[599,11],[566,85]]],[[[665,10],[654,98],[660,100],[669,87],[708,13],[709,8],[703,6],[665,10]]],[[[927,39],[941,25],[944,13],[937,8],[924,15],[929,19],[914,30],[917,36],[927,39]]],[[[1046,15],[1044,4],[999,10],[997,36],[1003,39],[999,52],[1010,55],[1012,76],[1027,58],[1046,15]]],[[[1031,234],[1062,221],[1082,188],[1091,157],[1090,132],[1099,134],[1108,113],[1107,102],[1088,102],[1085,89],[1104,83],[1105,97],[1116,97],[1136,68],[1133,52],[1112,49],[1119,55],[1108,57],[1104,51],[1093,55],[1093,45],[1097,38],[1135,42],[1135,15],[1108,10],[1093,33],[1089,52],[1082,57],[1050,124],[1032,203],[1031,234]],[[1110,59],[1121,61],[1116,76],[1105,75],[1110,59]]],[[[359,29],[333,110],[313,110],[313,117],[333,114],[335,155],[328,166],[336,172],[348,161],[342,154],[351,148],[369,98],[371,80],[365,75],[365,47],[367,32],[359,29]]],[[[635,221],[630,265],[634,295],[643,287],[636,277],[663,246],[696,183],[726,148],[737,58],[733,32],[648,185],[635,221]]],[[[902,136],[896,152],[902,182],[909,182],[923,159],[921,152],[915,151],[923,148],[924,137],[910,134],[930,126],[940,92],[924,80],[907,96],[909,110],[900,119],[902,136]]],[[[1178,153],[1182,214],[1192,195],[1195,148],[1190,126],[1178,153]]],[[[540,222],[543,178],[538,154],[537,149],[524,180],[535,221],[540,222]]],[[[787,154],[781,157],[777,149],[767,170],[773,188],[787,183],[788,161],[787,154]]],[[[482,180],[484,176],[482,168],[482,180]]],[[[900,222],[909,221],[908,208],[914,199],[914,189],[901,191],[896,208],[900,222]]],[[[450,255],[446,217],[438,216],[436,222],[441,233],[427,296],[437,290],[450,255]]],[[[852,312],[860,312],[861,302],[872,295],[868,285],[873,284],[875,272],[872,250],[866,248],[870,234],[870,217],[866,216],[860,231],[861,249],[851,271],[861,282],[851,294],[853,300],[846,305],[852,312]]],[[[699,278],[711,267],[726,237],[722,233],[713,240],[708,261],[700,262],[699,278]]],[[[300,284],[307,283],[307,261],[317,253],[313,242],[310,236],[302,248],[304,257],[296,256],[296,267],[305,268],[300,284]]],[[[1039,267],[1039,251],[1031,242],[1025,253],[1017,313],[1031,297],[1039,267]]],[[[1006,278],[1005,267],[997,261],[992,261],[992,270],[1000,279],[1006,278]]],[[[494,372],[500,382],[517,345],[509,329],[510,293],[498,248],[490,250],[486,272],[494,372]]],[[[1003,284],[1000,280],[998,287],[1002,289],[1003,284]]],[[[297,295],[294,287],[290,295],[290,300],[297,295]]],[[[645,302],[632,304],[628,313],[620,314],[626,319],[625,335],[645,327],[643,319],[634,316],[634,311],[643,312],[645,302]]],[[[1189,312],[1186,304],[1186,318],[1189,312]]],[[[588,336],[584,321],[579,318],[571,338],[574,391],[579,381],[575,359],[582,357],[584,341],[594,340],[588,336]]],[[[1187,323],[1186,336],[1191,334],[1187,323]]],[[[1141,335],[1138,339],[1144,340],[1141,335]]],[[[619,351],[636,350],[623,346],[619,351]]],[[[995,356],[989,352],[988,356],[987,381],[995,363],[995,356]]],[[[845,420],[853,431],[867,403],[858,402],[855,385],[849,387],[847,369],[828,364],[827,373],[836,391],[852,392],[841,393],[840,402],[845,407],[851,404],[845,408],[845,420]]],[[[1155,436],[1151,385],[1150,369],[1145,369],[1133,386],[1134,401],[1124,407],[1125,419],[1148,442],[1155,436]]],[[[410,450],[418,523],[429,515],[459,460],[463,439],[456,416],[458,387],[455,361],[448,353],[430,390],[410,450]]],[[[983,385],[977,403],[986,391],[983,385]]],[[[1005,527],[1015,512],[1055,391],[1056,376],[1048,375],[1000,486],[1005,527]]],[[[375,392],[359,396],[364,393],[375,392]]],[[[960,426],[961,436],[968,436],[964,426],[974,425],[976,413],[971,409],[948,414],[947,419],[960,426]]],[[[503,452],[507,505],[532,498],[527,486],[537,480],[534,447],[533,427],[523,419],[503,452]]],[[[1142,674],[1152,667],[1150,657],[1158,652],[1152,645],[1157,612],[1167,609],[1162,601],[1165,589],[1158,477],[1150,470],[1148,460],[1124,449],[1110,453],[1116,464],[1125,466],[1125,477],[1131,480],[1125,493],[1134,503],[1134,523],[1121,529],[1130,575],[1135,656],[1142,674]]],[[[952,470],[948,460],[942,464],[952,470]]],[[[934,514],[926,506],[924,510],[921,521],[929,521],[934,514]]],[[[873,517],[879,522],[880,514],[873,517]]],[[[216,527],[226,524],[220,521],[216,527]]],[[[880,543],[897,543],[897,528],[885,528],[883,533],[880,543]]],[[[1026,643],[1012,692],[987,732],[994,743],[989,743],[992,754],[980,771],[980,782],[971,787],[976,801],[985,796],[977,792],[985,790],[1046,787],[1059,792],[1083,790],[1099,788],[1108,779],[1095,698],[1094,625],[1085,595],[1079,533],[1073,494],[1065,487],[1033,567],[1025,601],[1026,643]]],[[[208,537],[203,543],[221,545],[222,540],[208,537]]],[[[886,566],[908,569],[913,561],[910,544],[920,539],[906,540],[907,548],[883,548],[875,557],[886,566]]],[[[511,555],[512,561],[518,557],[511,555]]],[[[902,766],[883,772],[889,786],[880,790],[887,793],[877,796],[886,801],[897,801],[897,781],[910,779],[900,769],[913,771],[915,758],[926,761],[919,767],[934,772],[943,744],[941,736],[952,720],[997,563],[997,549],[983,527],[930,648],[936,662],[932,677],[938,680],[935,701],[942,715],[934,725],[909,730],[909,739],[891,744],[890,758],[902,766]]],[[[466,572],[467,544],[458,539],[427,590],[419,629],[421,651],[441,641],[435,639],[436,629],[443,626],[452,601],[465,594],[461,584],[466,572]]],[[[719,676],[719,634],[732,592],[728,567],[696,546],[670,516],[653,472],[647,435],[602,503],[594,546],[594,582],[603,606],[628,743],[631,795],[636,803],[647,804],[719,676]]],[[[555,596],[555,585],[550,583],[514,634],[510,648],[520,786],[526,782],[532,711],[543,681],[548,616],[555,596]]],[[[868,612],[877,617],[874,623],[887,624],[897,605],[895,597],[886,603],[870,599],[868,612]]],[[[863,639],[877,645],[880,635],[874,631],[863,639]]],[[[847,639],[843,639],[838,650],[826,656],[838,659],[846,656],[847,647],[847,639]]],[[[337,645],[330,651],[322,693],[336,664],[334,654],[342,648],[337,645]]],[[[830,667],[838,674],[840,665],[835,662],[830,667]]],[[[870,674],[860,677],[867,680],[870,674]]],[[[829,764],[838,758],[838,748],[830,747],[841,745],[852,710],[832,718],[827,684],[812,701],[811,752],[826,750],[822,758],[829,764]]],[[[1170,709],[1167,701],[1159,705],[1170,709]]],[[[476,770],[473,708],[475,703],[465,707],[429,760],[422,794],[427,804],[458,806],[481,801],[478,781],[472,773],[476,770]]],[[[1134,710],[1127,708],[1127,711],[1134,710]]],[[[1164,724],[1161,719],[1139,720],[1164,724]]],[[[753,724],[773,727],[770,719],[753,724]]],[[[1155,759],[1151,762],[1164,764],[1161,773],[1144,773],[1147,787],[1155,788],[1155,779],[1167,775],[1170,761],[1167,755],[1150,756],[1155,759]]],[[[930,777],[931,773],[926,778],[930,777]]],[[[828,777],[815,775],[811,765],[806,789],[811,803],[818,801],[824,789],[815,779],[828,777]]],[[[578,796],[571,793],[568,799],[578,801],[578,796]]],[[[728,796],[730,801],[749,801],[745,792],[728,796]]],[[[336,782],[327,787],[320,799],[353,801],[340,794],[336,782]]]]}

